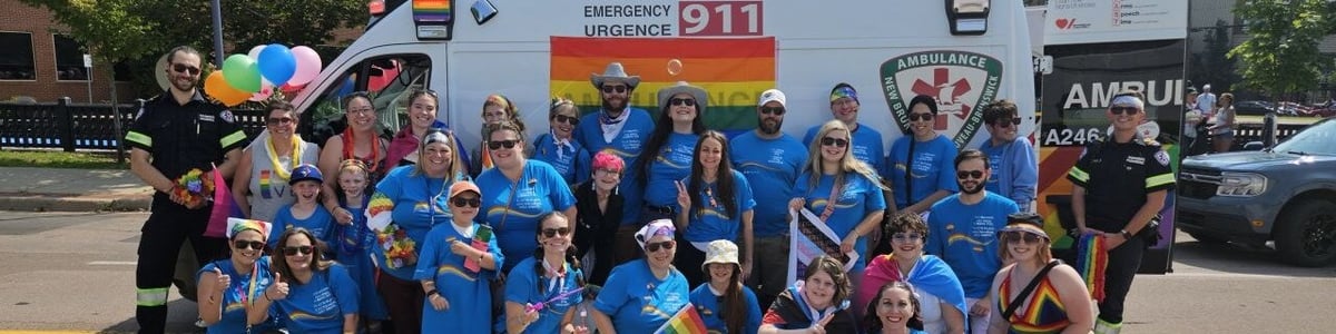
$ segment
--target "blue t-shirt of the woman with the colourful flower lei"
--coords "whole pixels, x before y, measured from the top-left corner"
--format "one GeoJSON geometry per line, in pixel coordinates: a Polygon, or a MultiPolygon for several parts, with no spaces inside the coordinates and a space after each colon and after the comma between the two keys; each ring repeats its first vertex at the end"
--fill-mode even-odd
{"type": "MultiPolygon", "coordinates": [[[[390,170],[381,183],[375,184],[375,194],[371,195],[369,210],[377,207],[378,200],[389,200],[394,207],[390,219],[394,224],[407,232],[409,239],[417,243],[417,250],[422,250],[424,238],[432,226],[450,223],[450,186],[456,180],[468,179],[466,175],[454,178],[434,179],[417,172],[414,166],[399,166],[390,170]]],[[[413,265],[390,269],[386,266],[385,250],[377,248],[377,263],[385,273],[394,278],[411,281],[413,265]]]]}

